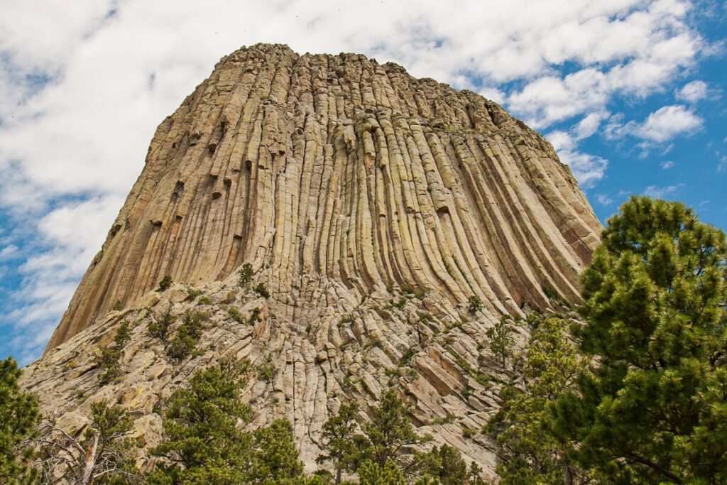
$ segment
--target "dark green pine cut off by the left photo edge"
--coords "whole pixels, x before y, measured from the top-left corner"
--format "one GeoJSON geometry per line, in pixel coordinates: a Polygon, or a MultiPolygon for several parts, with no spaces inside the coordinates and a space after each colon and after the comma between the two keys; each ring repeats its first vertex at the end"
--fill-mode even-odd
{"type": "Polygon", "coordinates": [[[33,484],[37,472],[28,465],[32,449],[25,443],[36,433],[38,399],[20,390],[20,369],[12,357],[0,367],[0,482],[33,484]]]}

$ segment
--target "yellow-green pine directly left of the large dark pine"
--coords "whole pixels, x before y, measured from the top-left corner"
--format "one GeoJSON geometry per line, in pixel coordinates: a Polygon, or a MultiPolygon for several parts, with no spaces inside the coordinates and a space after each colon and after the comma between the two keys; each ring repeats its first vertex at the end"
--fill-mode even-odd
{"type": "Polygon", "coordinates": [[[575,388],[585,361],[569,340],[568,322],[547,318],[533,330],[521,367],[523,387],[508,385],[486,432],[497,438],[502,485],[582,483],[568,457],[570,443],[549,433],[550,403],[575,388]]]}

